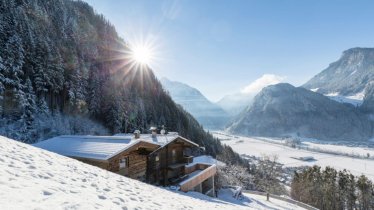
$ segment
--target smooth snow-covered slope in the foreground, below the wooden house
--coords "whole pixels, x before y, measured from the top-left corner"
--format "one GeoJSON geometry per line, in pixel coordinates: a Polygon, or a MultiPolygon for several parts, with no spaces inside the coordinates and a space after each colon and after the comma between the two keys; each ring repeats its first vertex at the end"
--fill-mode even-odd
{"type": "Polygon", "coordinates": [[[0,154],[1,210],[248,209],[170,192],[1,136],[0,154]]]}

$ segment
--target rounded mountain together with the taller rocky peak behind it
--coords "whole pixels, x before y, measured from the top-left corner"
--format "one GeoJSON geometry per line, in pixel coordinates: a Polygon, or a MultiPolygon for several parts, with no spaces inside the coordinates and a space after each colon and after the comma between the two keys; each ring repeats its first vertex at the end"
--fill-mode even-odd
{"type": "Polygon", "coordinates": [[[264,88],[227,130],[258,136],[368,140],[374,136],[373,83],[374,48],[352,48],[301,87],[264,88]],[[352,105],[336,100],[338,96],[362,103],[352,105]]]}

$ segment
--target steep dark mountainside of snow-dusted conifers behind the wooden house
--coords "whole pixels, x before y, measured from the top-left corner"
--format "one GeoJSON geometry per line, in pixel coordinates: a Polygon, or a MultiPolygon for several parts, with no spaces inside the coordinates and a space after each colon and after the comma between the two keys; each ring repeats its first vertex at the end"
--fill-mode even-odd
{"type": "Polygon", "coordinates": [[[0,0],[0,134],[31,143],[94,134],[87,127],[95,122],[110,133],[165,125],[208,154],[222,153],[225,147],[130,53],[85,2],[0,0]]]}

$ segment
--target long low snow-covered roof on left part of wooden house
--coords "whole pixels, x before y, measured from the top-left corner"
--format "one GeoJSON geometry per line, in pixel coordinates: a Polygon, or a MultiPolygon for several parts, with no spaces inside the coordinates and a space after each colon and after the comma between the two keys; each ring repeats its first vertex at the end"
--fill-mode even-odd
{"type": "Polygon", "coordinates": [[[34,146],[70,157],[107,160],[141,141],[127,136],[58,136],[34,146]]]}

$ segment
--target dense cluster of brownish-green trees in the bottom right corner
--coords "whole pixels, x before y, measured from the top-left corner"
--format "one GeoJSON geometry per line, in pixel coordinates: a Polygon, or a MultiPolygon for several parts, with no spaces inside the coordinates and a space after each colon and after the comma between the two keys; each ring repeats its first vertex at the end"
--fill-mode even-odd
{"type": "Polygon", "coordinates": [[[374,209],[374,185],[366,176],[319,166],[295,172],[291,197],[319,209],[374,209]]]}

